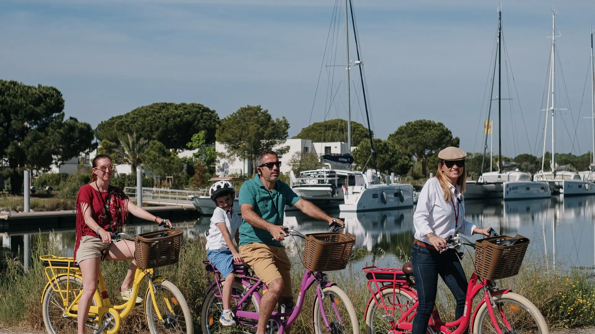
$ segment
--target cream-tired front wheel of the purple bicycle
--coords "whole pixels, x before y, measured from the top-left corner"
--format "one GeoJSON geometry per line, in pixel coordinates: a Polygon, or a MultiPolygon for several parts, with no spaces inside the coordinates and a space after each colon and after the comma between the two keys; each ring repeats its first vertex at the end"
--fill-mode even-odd
{"type": "MultiPolygon", "coordinates": [[[[324,294],[324,298],[322,298],[323,306],[324,306],[325,300],[327,300],[327,297],[328,297],[328,300],[330,301],[329,303],[334,303],[337,307],[340,307],[340,304],[343,304],[345,307],[345,310],[347,311],[347,314],[349,314],[349,323],[346,323],[345,319],[343,317],[341,317],[341,320],[343,320],[343,321],[340,321],[340,320],[331,321],[332,317],[330,317],[330,314],[327,314],[327,320],[329,321],[330,326],[342,326],[342,329],[333,330],[332,332],[359,334],[358,315],[355,313],[355,308],[353,307],[353,304],[351,303],[351,300],[349,299],[349,297],[347,297],[347,294],[345,293],[345,291],[340,289],[339,286],[333,285],[333,286],[327,286],[326,288],[322,289],[322,293],[324,294]],[[333,300],[330,300],[330,296],[332,296],[332,295],[334,295],[336,297],[333,300]],[[339,299],[339,303],[340,303],[339,305],[337,305],[337,298],[339,299]],[[350,324],[351,329],[345,330],[345,324],[347,324],[347,326],[349,326],[349,324],[350,324]]],[[[326,313],[327,312],[325,311],[325,314],[326,313]]],[[[328,328],[326,327],[326,325],[324,323],[324,320],[322,320],[322,313],[320,310],[320,303],[318,303],[318,296],[316,296],[314,298],[314,307],[312,307],[312,327],[314,329],[314,333],[317,333],[317,334],[330,334],[331,333],[331,330],[328,330],[328,328]]]]}

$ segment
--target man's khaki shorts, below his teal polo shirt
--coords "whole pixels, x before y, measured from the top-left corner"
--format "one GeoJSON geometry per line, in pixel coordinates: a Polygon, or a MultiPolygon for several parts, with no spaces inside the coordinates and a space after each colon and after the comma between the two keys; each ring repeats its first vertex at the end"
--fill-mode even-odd
{"type": "Polygon", "coordinates": [[[265,285],[269,285],[275,279],[283,278],[285,285],[283,291],[281,291],[281,296],[293,297],[292,276],[290,275],[292,263],[289,261],[284,247],[253,242],[252,244],[240,246],[240,255],[254,270],[256,277],[265,285]]]}

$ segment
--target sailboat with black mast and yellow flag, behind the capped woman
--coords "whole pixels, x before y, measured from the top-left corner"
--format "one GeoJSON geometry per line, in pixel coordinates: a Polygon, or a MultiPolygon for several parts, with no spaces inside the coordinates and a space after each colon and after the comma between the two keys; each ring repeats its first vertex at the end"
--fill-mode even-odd
{"type": "MultiPolygon", "coordinates": [[[[516,163],[502,161],[502,8],[498,7],[498,37],[497,57],[494,57],[494,76],[498,68],[498,171],[483,172],[487,149],[487,131],[484,144],[484,159],[481,162],[482,174],[477,181],[467,181],[465,185],[465,198],[503,198],[505,200],[521,200],[529,198],[545,198],[552,196],[550,187],[544,182],[532,182],[531,175],[516,171],[504,171],[504,168],[514,167],[516,163]]],[[[490,102],[488,105],[488,122],[491,114],[491,101],[494,92],[494,77],[490,89],[490,102]]]]}

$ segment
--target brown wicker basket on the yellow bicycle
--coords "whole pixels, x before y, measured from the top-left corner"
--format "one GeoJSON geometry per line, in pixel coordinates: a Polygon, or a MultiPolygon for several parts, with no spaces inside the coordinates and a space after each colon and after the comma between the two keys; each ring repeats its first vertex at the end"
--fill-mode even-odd
{"type": "Polygon", "coordinates": [[[182,230],[163,229],[134,236],[134,259],[141,269],[168,266],[178,262],[182,230]]]}

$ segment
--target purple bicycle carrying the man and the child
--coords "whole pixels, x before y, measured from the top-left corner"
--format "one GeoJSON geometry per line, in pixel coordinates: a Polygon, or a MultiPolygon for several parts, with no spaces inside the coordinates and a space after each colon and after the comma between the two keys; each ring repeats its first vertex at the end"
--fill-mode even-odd
{"type": "MultiPolygon", "coordinates": [[[[342,228],[339,224],[331,225],[328,232],[337,232],[342,228]]],[[[293,229],[285,229],[286,237],[294,235],[305,239],[305,235],[293,229]]],[[[242,263],[235,263],[234,273],[236,281],[231,292],[231,310],[235,314],[238,326],[224,327],[218,321],[223,311],[221,291],[225,278],[209,261],[205,264],[206,276],[211,287],[206,291],[202,304],[201,323],[202,332],[211,333],[255,333],[258,324],[258,305],[267,286],[258,278],[252,276],[249,267],[242,263]],[[214,281],[211,281],[211,274],[214,281]]],[[[312,330],[317,334],[359,334],[358,317],[353,304],[347,294],[336,283],[328,282],[328,276],[323,272],[312,272],[306,269],[303,274],[302,285],[297,295],[295,307],[280,312],[273,311],[267,324],[267,334],[283,333],[283,329],[290,326],[302,310],[306,291],[315,289],[314,303],[312,303],[312,330]]]]}

